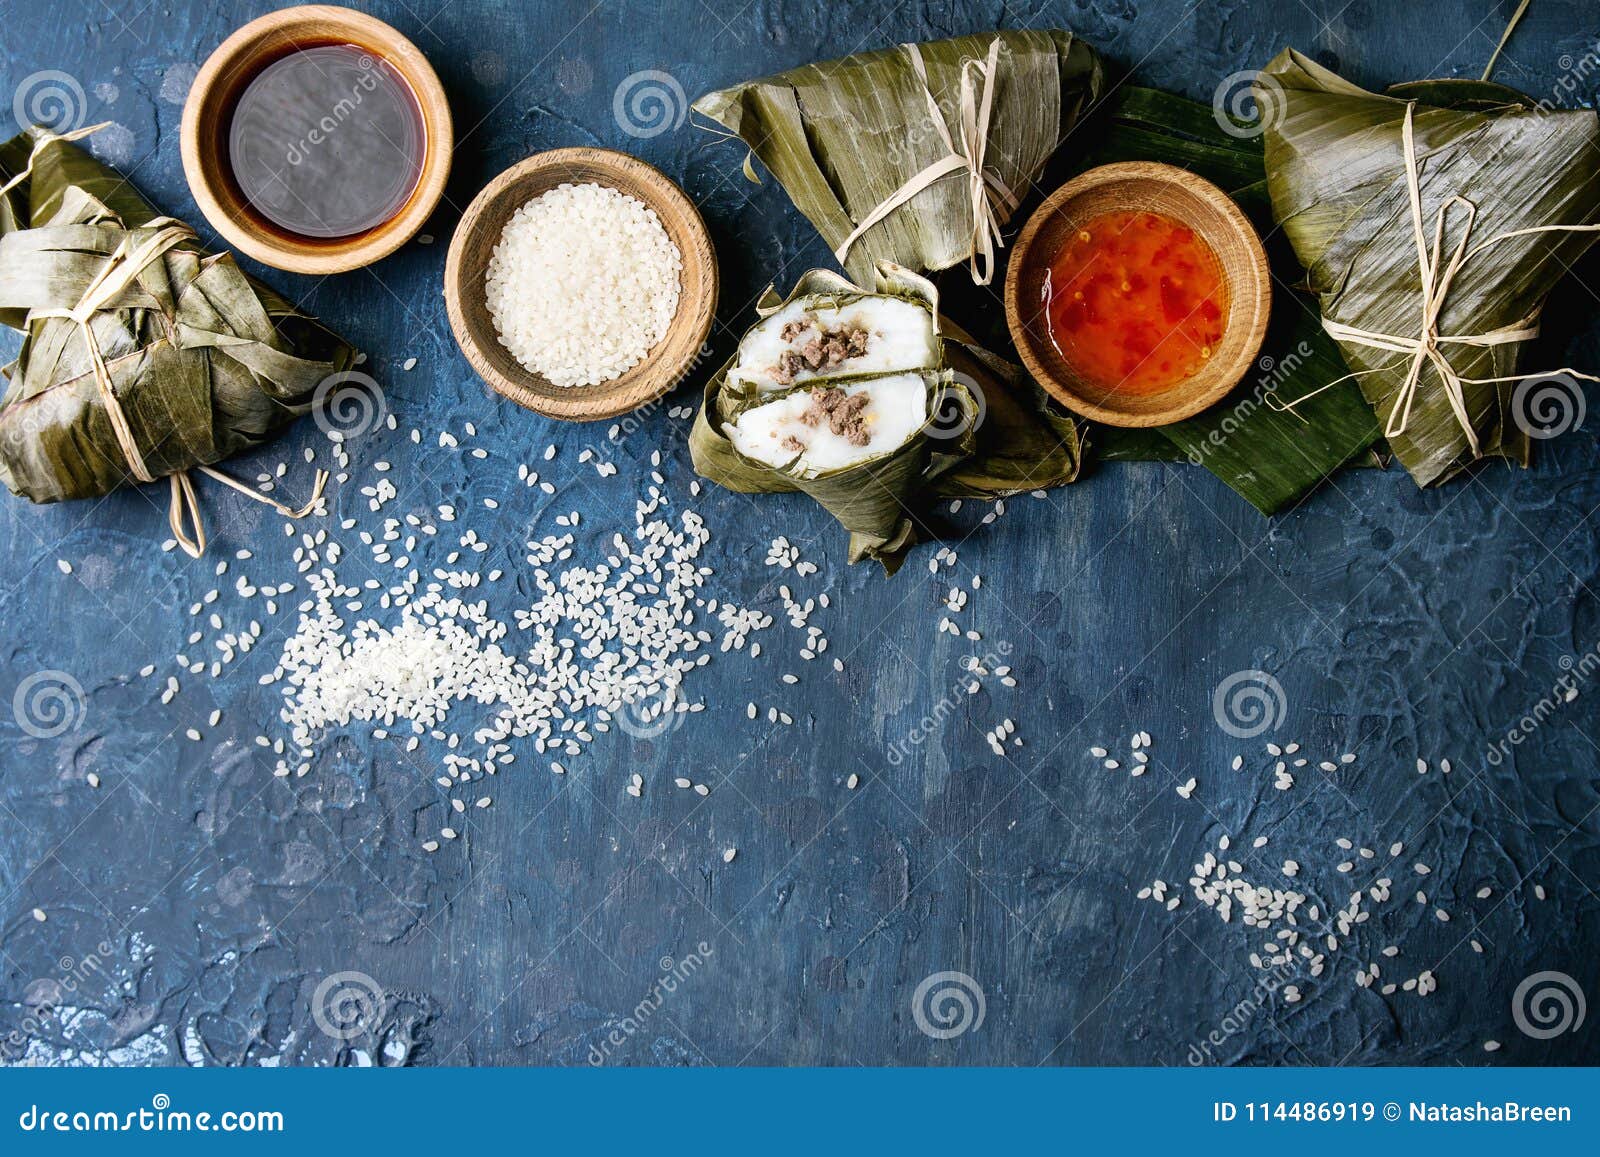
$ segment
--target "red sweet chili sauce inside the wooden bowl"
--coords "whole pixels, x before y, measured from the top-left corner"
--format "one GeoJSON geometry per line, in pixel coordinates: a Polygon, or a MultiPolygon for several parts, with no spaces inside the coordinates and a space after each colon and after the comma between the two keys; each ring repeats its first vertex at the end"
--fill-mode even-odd
{"type": "Polygon", "coordinates": [[[1104,213],[1069,234],[1045,301],[1067,365],[1120,394],[1158,394],[1190,378],[1227,325],[1221,262],[1194,229],[1160,213],[1104,213]]]}

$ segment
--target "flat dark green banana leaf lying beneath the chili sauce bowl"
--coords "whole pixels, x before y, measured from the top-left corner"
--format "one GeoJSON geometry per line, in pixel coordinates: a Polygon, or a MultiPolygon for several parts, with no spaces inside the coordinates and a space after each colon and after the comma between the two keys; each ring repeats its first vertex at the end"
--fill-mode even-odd
{"type": "Polygon", "coordinates": [[[1354,381],[1325,389],[1349,370],[1314,304],[1290,288],[1301,269],[1288,242],[1275,235],[1259,134],[1250,125],[1224,131],[1210,106],[1133,85],[1109,98],[1101,115],[1101,133],[1080,168],[1160,160],[1214,182],[1262,235],[1275,290],[1256,370],[1227,398],[1158,432],[1094,427],[1094,453],[1107,461],[1187,458],[1269,515],[1341,466],[1368,461],[1378,422],[1354,381]],[[1296,413],[1274,408],[1310,394],[1296,413]]]}

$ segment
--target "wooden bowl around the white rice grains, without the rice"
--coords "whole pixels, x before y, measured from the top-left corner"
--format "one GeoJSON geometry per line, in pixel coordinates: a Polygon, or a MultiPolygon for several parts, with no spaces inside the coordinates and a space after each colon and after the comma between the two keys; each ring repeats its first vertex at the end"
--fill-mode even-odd
{"type": "Polygon", "coordinates": [[[598,421],[654,402],[701,360],[717,314],[717,254],[694,202],[659,170],[610,149],[554,149],[512,165],[467,206],[445,261],[445,307],[461,352],[490,387],[549,418],[598,421]],[[602,184],[656,211],[683,254],[678,312],[645,360],[598,386],[555,386],[501,344],[483,288],[510,214],[562,184],[602,184]]]}

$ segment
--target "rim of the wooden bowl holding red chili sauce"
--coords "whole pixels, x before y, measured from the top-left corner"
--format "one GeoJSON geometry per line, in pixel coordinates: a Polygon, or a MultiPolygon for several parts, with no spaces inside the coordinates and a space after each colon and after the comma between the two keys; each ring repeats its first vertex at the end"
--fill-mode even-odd
{"type": "Polygon", "coordinates": [[[1011,262],[1006,267],[1005,312],[1006,325],[1011,330],[1011,341],[1016,344],[1022,365],[1040,386],[1043,386],[1069,410],[1093,421],[1104,422],[1106,426],[1170,426],[1186,418],[1194,418],[1203,410],[1208,410],[1221,402],[1234,390],[1235,386],[1238,386],[1243,376],[1250,371],[1250,366],[1254,365],[1256,355],[1261,352],[1261,342],[1267,336],[1267,322],[1272,315],[1272,270],[1267,266],[1267,254],[1261,246],[1261,237],[1256,235],[1256,227],[1250,222],[1250,218],[1245,216],[1243,210],[1238,208],[1234,198],[1222,192],[1222,189],[1186,168],[1178,168],[1176,165],[1163,165],[1160,162],[1147,160],[1117,162],[1112,165],[1099,165],[1067,181],[1046,197],[1045,203],[1040,205],[1027,219],[1027,224],[1022,226],[1022,232],[1018,235],[1011,253],[1011,262]],[[1106,405],[1106,402],[1085,398],[1075,389],[1074,382],[1062,381],[1034,352],[1035,336],[1027,322],[1022,320],[1018,294],[1021,290],[1022,274],[1029,261],[1034,258],[1032,250],[1040,230],[1067,202],[1088,192],[1101,190],[1106,186],[1130,182],[1142,184],[1150,181],[1181,189],[1184,194],[1195,197],[1216,210],[1227,222],[1230,232],[1226,238],[1206,235],[1205,240],[1213,250],[1218,251],[1221,251],[1227,243],[1235,243],[1246,258],[1248,275],[1243,278],[1245,283],[1229,283],[1229,328],[1232,330],[1235,325],[1245,325],[1248,328],[1245,330],[1245,341],[1238,354],[1230,363],[1227,363],[1226,371],[1219,374],[1213,386],[1200,392],[1189,392],[1186,390],[1187,382],[1179,382],[1166,390],[1166,394],[1173,398],[1170,406],[1162,410],[1130,411],[1118,410],[1115,405],[1106,405]]]}

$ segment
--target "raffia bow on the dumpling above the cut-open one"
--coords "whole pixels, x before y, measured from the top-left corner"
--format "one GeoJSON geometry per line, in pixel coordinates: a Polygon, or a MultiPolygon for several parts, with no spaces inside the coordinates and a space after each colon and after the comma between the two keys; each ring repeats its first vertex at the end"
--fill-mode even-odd
{"type": "Polygon", "coordinates": [[[936,181],[965,174],[973,214],[973,256],[968,261],[968,269],[974,285],[989,285],[994,280],[995,250],[1005,248],[1005,240],[1000,235],[1000,224],[1005,219],[1002,213],[1010,216],[1018,206],[1016,194],[1006,187],[998,173],[984,165],[984,154],[989,149],[989,118],[994,112],[994,86],[1000,69],[1000,38],[990,42],[989,53],[982,61],[962,61],[957,94],[958,133],[955,134],[950,133],[939,101],[928,83],[928,66],[922,59],[922,50],[914,43],[901,45],[901,48],[910,58],[917,80],[922,83],[922,94],[928,102],[928,120],[933,123],[934,133],[939,134],[946,155],[914,174],[862,218],[850,237],[834,250],[834,258],[838,259],[838,264],[845,264],[851,246],[890,213],[936,181]]]}

